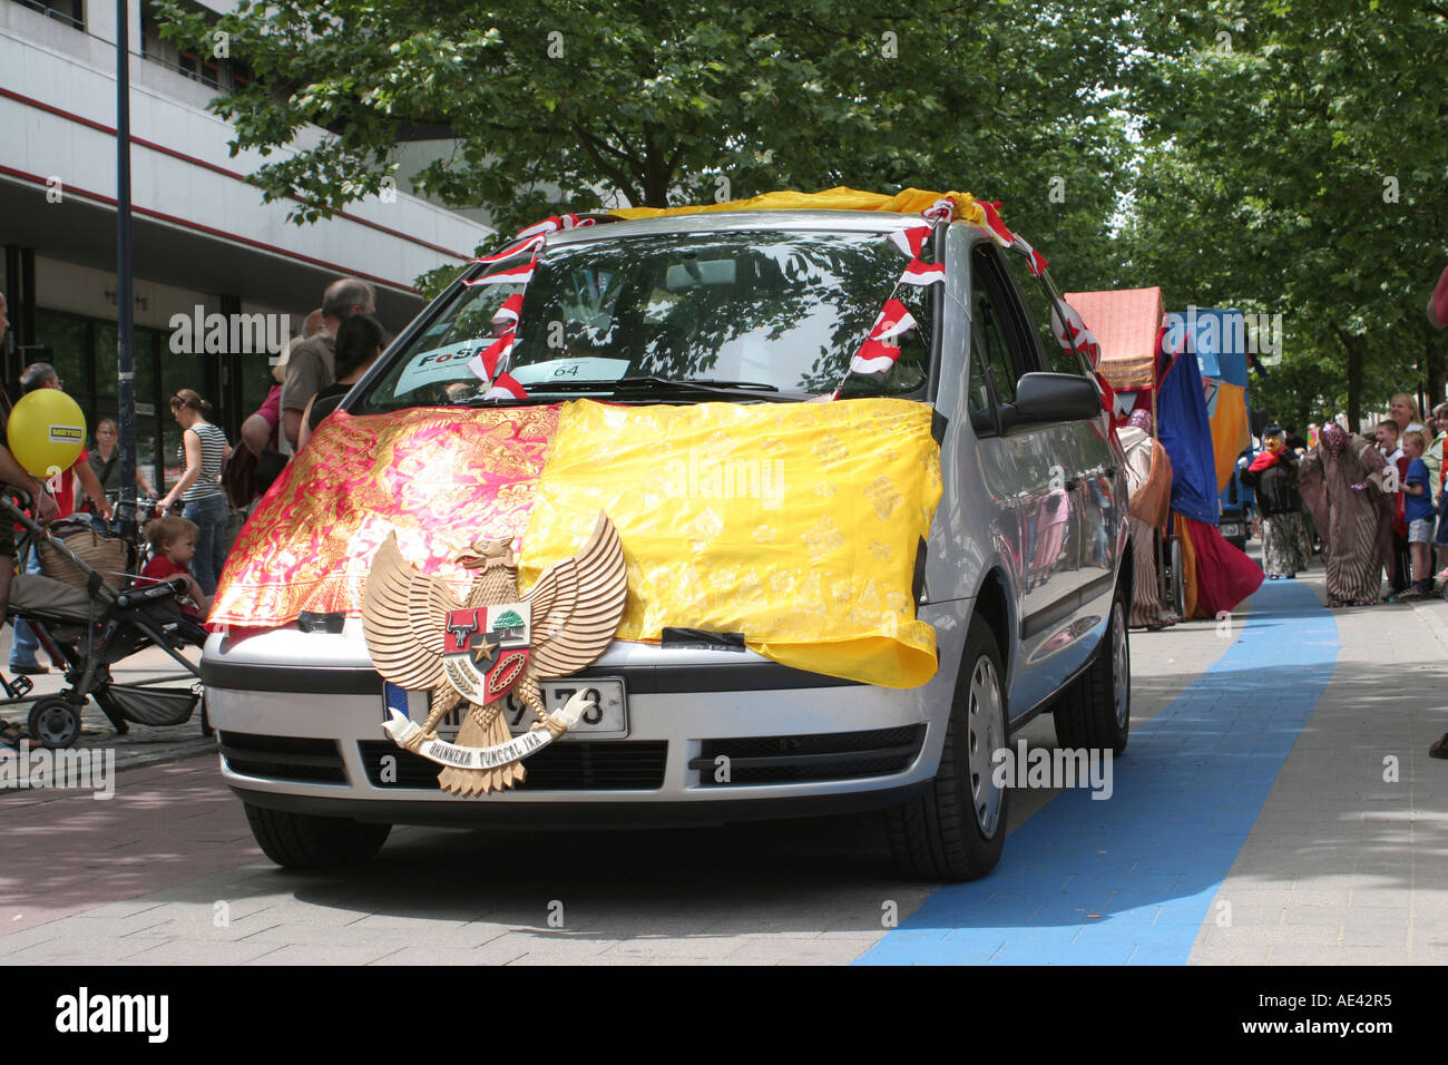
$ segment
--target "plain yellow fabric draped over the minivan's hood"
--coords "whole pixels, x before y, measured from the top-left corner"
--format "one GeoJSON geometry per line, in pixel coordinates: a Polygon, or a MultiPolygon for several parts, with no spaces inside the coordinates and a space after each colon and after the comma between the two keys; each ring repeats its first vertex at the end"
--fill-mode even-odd
{"type": "Polygon", "coordinates": [[[743,632],[785,665],[905,688],[935,672],[915,551],[940,501],[931,409],[906,400],[614,407],[559,417],[518,584],[604,510],[628,565],[620,639],[743,632]]]}

